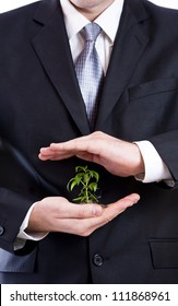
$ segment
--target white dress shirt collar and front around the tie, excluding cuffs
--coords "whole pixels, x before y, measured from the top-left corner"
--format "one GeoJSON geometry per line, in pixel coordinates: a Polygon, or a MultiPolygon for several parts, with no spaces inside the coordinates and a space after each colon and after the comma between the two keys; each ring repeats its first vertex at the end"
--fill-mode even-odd
{"type": "MultiPolygon", "coordinates": [[[[60,0],[64,23],[67,27],[67,33],[69,37],[69,44],[71,47],[72,58],[75,62],[76,58],[84,48],[84,38],[81,34],[82,28],[90,23],[90,21],[82,15],[71,4],[69,0],[60,0]]],[[[102,33],[96,40],[96,49],[99,55],[99,59],[106,74],[110,54],[112,50],[115,37],[120,22],[120,16],[123,7],[123,0],[115,0],[105,10],[95,22],[102,27],[102,33]]]]}

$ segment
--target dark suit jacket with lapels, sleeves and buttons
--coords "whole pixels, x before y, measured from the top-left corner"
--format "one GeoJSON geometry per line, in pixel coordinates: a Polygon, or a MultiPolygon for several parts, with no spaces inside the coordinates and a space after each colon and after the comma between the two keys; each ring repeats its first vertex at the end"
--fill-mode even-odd
{"type": "MultiPolygon", "coordinates": [[[[95,130],[149,140],[175,187],[100,174],[102,202],[130,192],[140,202],[90,237],[51,233],[13,251],[34,201],[62,196],[78,158],[41,162],[51,142],[88,134],[58,0],[0,16],[0,282],[178,282],[178,12],[126,0],[95,130]]],[[[154,167],[154,164],[153,164],[154,167]]]]}

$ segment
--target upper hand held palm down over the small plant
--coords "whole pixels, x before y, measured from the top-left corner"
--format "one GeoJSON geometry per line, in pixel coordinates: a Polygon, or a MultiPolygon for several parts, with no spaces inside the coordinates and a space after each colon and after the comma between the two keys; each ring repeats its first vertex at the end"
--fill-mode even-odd
{"type": "Polygon", "coordinates": [[[61,161],[72,156],[97,163],[117,176],[135,176],[144,172],[144,163],[137,144],[103,132],[94,132],[40,149],[41,161],[61,161]]]}

